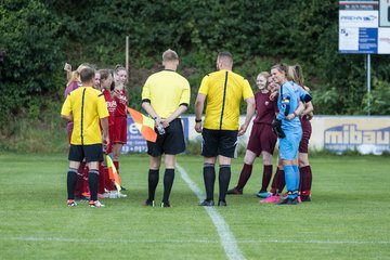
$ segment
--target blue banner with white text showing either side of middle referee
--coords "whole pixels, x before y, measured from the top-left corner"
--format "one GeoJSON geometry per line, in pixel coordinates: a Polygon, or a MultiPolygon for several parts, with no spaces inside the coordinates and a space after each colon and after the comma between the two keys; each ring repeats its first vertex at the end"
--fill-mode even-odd
{"type": "MultiPolygon", "coordinates": [[[[190,132],[190,123],[188,117],[182,117],[183,130],[184,130],[184,139],[185,142],[188,141],[188,132],[190,132]]],[[[138,130],[135,123],[133,122],[131,117],[128,117],[128,134],[127,134],[127,144],[122,146],[121,153],[146,153],[147,152],[147,143],[142,138],[140,131],[138,130]]]]}

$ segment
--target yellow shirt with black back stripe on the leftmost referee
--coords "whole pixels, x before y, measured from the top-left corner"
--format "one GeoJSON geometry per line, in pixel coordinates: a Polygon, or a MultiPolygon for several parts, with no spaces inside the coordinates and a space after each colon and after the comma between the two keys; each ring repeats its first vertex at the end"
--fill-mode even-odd
{"type": "Polygon", "coordinates": [[[102,143],[100,119],[108,117],[104,94],[92,87],[80,87],[66,98],[61,115],[73,114],[74,129],[70,144],[90,145],[102,143]]]}

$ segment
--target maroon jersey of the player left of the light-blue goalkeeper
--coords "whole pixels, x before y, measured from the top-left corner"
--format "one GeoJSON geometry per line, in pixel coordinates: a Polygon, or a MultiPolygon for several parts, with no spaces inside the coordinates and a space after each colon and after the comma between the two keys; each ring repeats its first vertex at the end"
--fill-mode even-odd
{"type": "Polygon", "coordinates": [[[270,100],[270,92],[261,93],[261,91],[255,94],[257,115],[253,123],[268,123],[271,125],[275,119],[277,109],[277,99],[270,100]]]}

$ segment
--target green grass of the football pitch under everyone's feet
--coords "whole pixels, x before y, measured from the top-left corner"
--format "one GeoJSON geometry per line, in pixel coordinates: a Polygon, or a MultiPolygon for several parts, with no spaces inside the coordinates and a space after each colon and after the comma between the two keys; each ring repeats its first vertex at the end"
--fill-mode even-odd
{"type": "MultiPolygon", "coordinates": [[[[0,259],[226,259],[216,226],[178,170],[172,208],[141,206],[147,196],[145,155],[121,156],[129,196],[104,199],[106,207],[94,209],[66,207],[65,154],[0,154],[0,259]]],[[[178,161],[204,191],[202,157],[178,161]]],[[[242,161],[233,162],[231,186],[242,161]]],[[[315,156],[311,164],[312,203],[259,204],[258,160],[244,195],[216,207],[244,257],[390,259],[389,159],[315,156]]]]}

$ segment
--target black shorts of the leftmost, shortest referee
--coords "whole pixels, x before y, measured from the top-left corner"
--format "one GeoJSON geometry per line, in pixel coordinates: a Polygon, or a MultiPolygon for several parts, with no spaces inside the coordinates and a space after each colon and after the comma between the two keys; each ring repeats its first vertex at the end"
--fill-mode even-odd
{"type": "Polygon", "coordinates": [[[69,160],[82,161],[86,158],[87,162],[103,161],[103,146],[102,144],[90,145],[74,145],[70,144],[69,160]]]}

